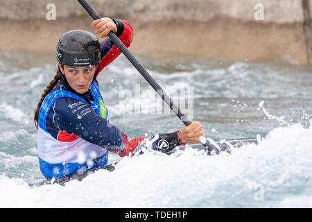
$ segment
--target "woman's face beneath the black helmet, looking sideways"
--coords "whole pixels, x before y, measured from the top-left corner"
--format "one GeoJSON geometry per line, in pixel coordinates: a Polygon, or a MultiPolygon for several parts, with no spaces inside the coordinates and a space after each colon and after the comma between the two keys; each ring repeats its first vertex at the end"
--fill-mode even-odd
{"type": "Polygon", "coordinates": [[[96,72],[96,65],[92,67],[69,67],[67,65],[60,65],[60,70],[65,75],[67,82],[73,90],[80,94],[88,91],[92,84],[94,74],[96,72]]]}

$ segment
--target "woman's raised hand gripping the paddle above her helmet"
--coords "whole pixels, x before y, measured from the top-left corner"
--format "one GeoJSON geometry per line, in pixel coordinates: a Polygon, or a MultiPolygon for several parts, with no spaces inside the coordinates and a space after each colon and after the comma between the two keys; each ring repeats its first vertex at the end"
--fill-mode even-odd
{"type": "Polygon", "coordinates": [[[101,19],[96,19],[92,22],[94,32],[98,35],[99,38],[106,37],[110,31],[113,33],[117,32],[116,24],[112,19],[105,17],[101,19]]]}

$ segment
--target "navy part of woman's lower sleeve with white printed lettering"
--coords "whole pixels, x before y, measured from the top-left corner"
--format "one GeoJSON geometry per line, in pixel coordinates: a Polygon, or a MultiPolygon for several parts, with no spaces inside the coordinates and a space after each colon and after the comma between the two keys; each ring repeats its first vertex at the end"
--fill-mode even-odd
{"type": "Polygon", "coordinates": [[[49,112],[47,129],[52,137],[60,141],[60,136],[76,135],[103,148],[107,145],[122,148],[121,130],[78,99],[57,99],[49,112]]]}

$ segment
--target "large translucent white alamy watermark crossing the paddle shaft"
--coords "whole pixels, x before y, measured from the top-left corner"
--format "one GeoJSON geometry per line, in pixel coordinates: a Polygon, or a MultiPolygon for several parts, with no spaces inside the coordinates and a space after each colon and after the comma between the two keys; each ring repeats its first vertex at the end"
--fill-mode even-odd
{"type": "MultiPolygon", "coordinates": [[[[122,89],[119,104],[123,105],[127,114],[177,114],[178,109],[189,119],[193,119],[193,89],[175,89],[171,94],[166,94],[159,89],[141,90],[140,84],[135,84],[133,89],[122,89]],[[125,105],[125,106],[124,106],[125,105]]],[[[182,118],[182,121],[186,119],[182,118]]]]}

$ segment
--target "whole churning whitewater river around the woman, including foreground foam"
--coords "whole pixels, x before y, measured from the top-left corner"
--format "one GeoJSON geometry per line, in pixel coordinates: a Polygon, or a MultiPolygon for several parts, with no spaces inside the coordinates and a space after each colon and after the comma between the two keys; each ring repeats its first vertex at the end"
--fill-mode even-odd
{"type": "MultiPolygon", "coordinates": [[[[286,58],[286,57],[284,57],[286,58]]],[[[207,137],[261,137],[232,154],[124,157],[83,181],[44,180],[33,111],[55,75],[55,56],[0,54],[0,207],[312,207],[312,76],[291,60],[210,57],[138,60],[207,137]]],[[[112,123],[130,137],[183,127],[120,56],[98,77],[112,123]]],[[[112,160],[114,160],[112,155],[112,160]]]]}

